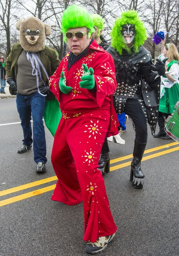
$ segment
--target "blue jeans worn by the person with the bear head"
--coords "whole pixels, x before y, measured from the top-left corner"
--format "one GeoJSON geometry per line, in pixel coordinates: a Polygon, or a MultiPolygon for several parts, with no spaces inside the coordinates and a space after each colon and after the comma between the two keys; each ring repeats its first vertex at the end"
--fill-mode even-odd
{"type": "Polygon", "coordinates": [[[45,108],[45,97],[38,92],[30,95],[17,93],[16,104],[23,128],[23,145],[29,146],[34,140],[33,150],[35,163],[46,163],[46,139],[42,120],[45,108]],[[31,114],[33,119],[33,140],[30,122],[31,114]]]}

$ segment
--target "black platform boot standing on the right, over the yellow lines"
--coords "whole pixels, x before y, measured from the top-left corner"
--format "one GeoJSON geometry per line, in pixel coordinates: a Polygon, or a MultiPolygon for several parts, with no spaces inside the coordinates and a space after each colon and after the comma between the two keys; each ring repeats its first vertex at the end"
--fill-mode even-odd
{"type": "Polygon", "coordinates": [[[133,160],[131,162],[130,181],[136,189],[142,189],[144,183],[144,174],[141,170],[141,160],[147,143],[139,143],[135,140],[133,150],[133,160]]]}

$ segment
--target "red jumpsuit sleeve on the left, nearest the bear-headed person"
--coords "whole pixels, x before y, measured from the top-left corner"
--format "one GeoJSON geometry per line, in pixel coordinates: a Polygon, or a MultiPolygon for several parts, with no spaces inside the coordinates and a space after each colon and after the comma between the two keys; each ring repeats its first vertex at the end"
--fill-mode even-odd
{"type": "Polygon", "coordinates": [[[60,102],[60,94],[61,94],[59,89],[59,80],[61,77],[62,67],[63,67],[63,60],[61,61],[55,73],[49,77],[49,88],[51,92],[56,96],[58,102],[60,102]]]}

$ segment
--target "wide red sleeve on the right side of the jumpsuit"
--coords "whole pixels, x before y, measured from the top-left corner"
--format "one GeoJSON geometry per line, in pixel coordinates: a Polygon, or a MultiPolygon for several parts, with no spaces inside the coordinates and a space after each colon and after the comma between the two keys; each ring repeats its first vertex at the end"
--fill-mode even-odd
{"type": "MultiPolygon", "coordinates": [[[[106,96],[113,95],[117,87],[115,66],[112,56],[108,52],[101,52],[92,64],[94,70],[96,94],[95,101],[102,106],[106,96]]],[[[90,90],[89,90],[90,91],[90,90]]],[[[94,93],[92,93],[94,98],[94,93]]]]}

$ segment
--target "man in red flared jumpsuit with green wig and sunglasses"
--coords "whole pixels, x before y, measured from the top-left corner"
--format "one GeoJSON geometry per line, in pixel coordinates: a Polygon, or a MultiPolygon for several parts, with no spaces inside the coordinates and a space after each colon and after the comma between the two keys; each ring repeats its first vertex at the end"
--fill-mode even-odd
{"type": "Polygon", "coordinates": [[[115,67],[112,56],[92,40],[93,22],[82,7],[64,11],[61,31],[70,52],[49,79],[62,112],[52,148],[58,177],[52,200],[67,205],[83,200],[86,251],[98,253],[117,230],[98,170],[117,86],[115,67]]]}

